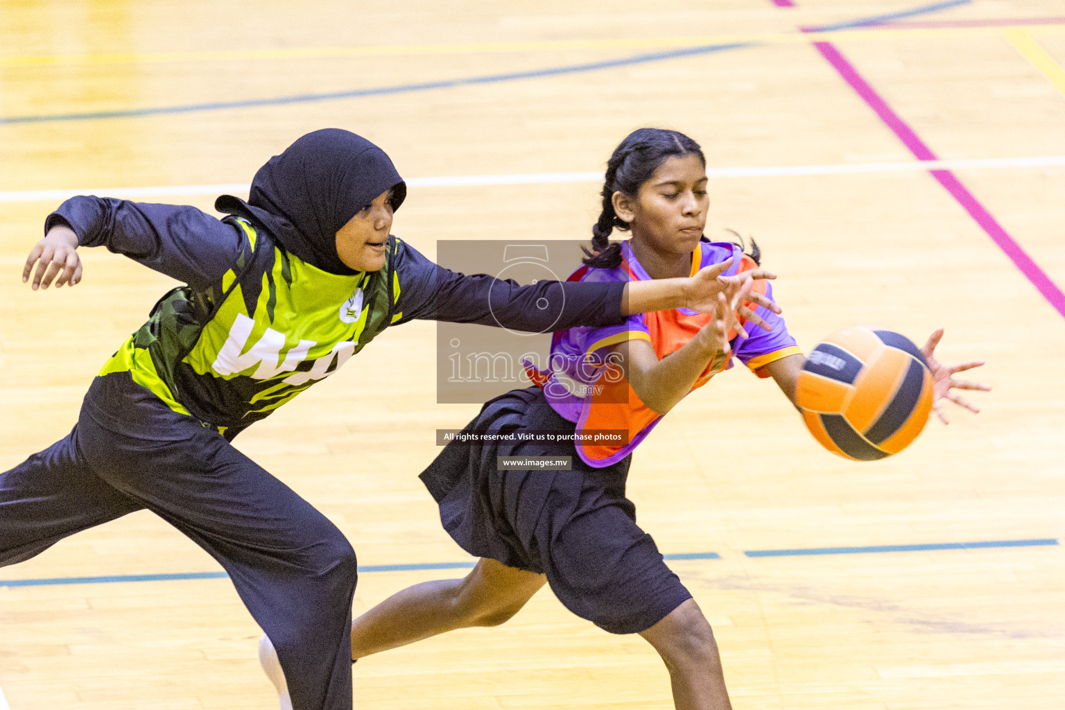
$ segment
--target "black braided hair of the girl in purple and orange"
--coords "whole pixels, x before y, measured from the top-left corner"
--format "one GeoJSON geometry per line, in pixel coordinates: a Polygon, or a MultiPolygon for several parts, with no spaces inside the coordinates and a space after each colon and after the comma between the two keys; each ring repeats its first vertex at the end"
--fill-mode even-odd
{"type": "Polygon", "coordinates": [[[592,250],[584,249],[584,263],[595,268],[618,268],[621,265],[621,244],[610,243],[615,229],[625,231],[628,222],[622,221],[613,211],[613,194],[636,197],[640,185],[651,179],[666,159],[694,153],[706,166],[706,158],[699,144],[677,131],[660,128],[641,128],[633,131],[613,149],[606,164],[603,183],[603,212],[592,226],[592,250]]]}

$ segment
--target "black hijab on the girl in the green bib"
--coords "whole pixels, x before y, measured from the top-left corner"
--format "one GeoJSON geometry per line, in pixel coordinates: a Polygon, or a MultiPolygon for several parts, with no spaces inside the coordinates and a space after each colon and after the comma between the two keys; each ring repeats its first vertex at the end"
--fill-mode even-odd
{"type": "Polygon", "coordinates": [[[337,255],[337,232],[375,197],[392,188],[392,209],[407,184],[383,150],[339,128],[297,139],[259,168],[248,201],[223,195],[218,212],[265,227],[285,251],[330,274],[356,274],[337,255]]]}

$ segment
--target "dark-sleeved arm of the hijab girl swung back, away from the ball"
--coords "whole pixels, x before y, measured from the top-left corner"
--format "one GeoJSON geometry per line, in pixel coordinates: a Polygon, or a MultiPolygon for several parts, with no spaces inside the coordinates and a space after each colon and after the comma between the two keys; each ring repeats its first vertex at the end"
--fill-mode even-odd
{"type": "Polygon", "coordinates": [[[72,197],[45,221],[45,238],[22,269],[33,288],[73,285],[81,280],[77,248],[105,246],[145,266],[206,288],[235,262],[244,237],[236,227],[193,207],[150,204],[98,197],[72,197]],[[52,278],[49,278],[51,275],[52,278]]]}

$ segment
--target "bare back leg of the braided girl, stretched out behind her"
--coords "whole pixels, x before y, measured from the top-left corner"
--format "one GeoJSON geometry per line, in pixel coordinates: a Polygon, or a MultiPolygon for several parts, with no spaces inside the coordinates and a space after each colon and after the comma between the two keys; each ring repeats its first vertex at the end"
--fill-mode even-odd
{"type": "Polygon", "coordinates": [[[470,626],[498,626],[525,606],[546,578],[481,559],[463,579],[408,587],[351,622],[351,658],[470,626]]]}

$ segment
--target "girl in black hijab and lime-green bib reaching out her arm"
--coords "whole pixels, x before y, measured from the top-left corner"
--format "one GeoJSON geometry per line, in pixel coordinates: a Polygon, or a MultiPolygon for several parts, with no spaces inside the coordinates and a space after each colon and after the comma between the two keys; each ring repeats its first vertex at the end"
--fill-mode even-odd
{"type": "Polygon", "coordinates": [[[390,235],[406,194],[384,151],[327,129],[260,168],[247,202],[218,198],[222,220],[96,197],[49,215],[22,273],[34,290],[78,284],[78,249],[94,246],[183,285],[103,365],[72,431],[0,474],[0,566],[151,510],[229,573],[277,648],[293,708],[351,708],[355,552],[233,437],[391,326],[426,318],[538,332],[557,318],[602,328],[632,309],[712,309],[735,281],[721,268],[564,286],[456,274],[390,235]]]}

